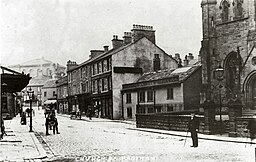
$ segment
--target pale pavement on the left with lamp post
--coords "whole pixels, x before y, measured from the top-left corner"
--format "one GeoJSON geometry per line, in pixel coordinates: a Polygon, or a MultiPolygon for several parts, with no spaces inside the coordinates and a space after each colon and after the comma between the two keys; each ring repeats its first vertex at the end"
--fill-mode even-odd
{"type": "Polygon", "coordinates": [[[0,140],[0,161],[42,161],[46,151],[27,125],[20,124],[20,116],[4,120],[6,135],[0,140]]]}

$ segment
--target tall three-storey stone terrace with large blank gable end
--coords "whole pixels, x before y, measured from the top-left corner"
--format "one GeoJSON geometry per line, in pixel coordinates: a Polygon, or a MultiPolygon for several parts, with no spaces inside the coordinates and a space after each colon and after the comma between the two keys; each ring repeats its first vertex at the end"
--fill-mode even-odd
{"type": "Polygon", "coordinates": [[[92,105],[99,116],[118,119],[122,117],[122,84],[136,81],[143,73],[178,67],[178,62],[156,45],[152,26],[133,25],[123,40],[113,36],[112,47],[91,50],[90,59],[80,65],[68,61],[72,108],[86,111],[92,105]]]}

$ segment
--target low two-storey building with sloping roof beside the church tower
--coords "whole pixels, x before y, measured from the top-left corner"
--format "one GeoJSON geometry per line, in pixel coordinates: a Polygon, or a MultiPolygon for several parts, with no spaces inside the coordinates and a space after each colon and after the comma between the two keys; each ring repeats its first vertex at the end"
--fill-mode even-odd
{"type": "Polygon", "coordinates": [[[136,82],[123,84],[122,112],[135,114],[199,110],[201,65],[144,73],[136,82]]]}

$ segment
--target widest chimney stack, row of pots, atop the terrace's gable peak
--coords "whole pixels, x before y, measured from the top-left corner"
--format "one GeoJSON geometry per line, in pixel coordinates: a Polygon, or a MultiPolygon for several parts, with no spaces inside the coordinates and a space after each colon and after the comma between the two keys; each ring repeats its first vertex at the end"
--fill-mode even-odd
{"type": "Polygon", "coordinates": [[[153,26],[134,24],[132,29],[132,41],[135,42],[143,37],[146,37],[151,42],[156,43],[155,30],[153,30],[153,26]]]}

